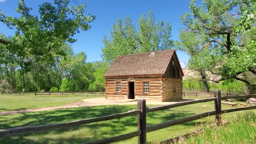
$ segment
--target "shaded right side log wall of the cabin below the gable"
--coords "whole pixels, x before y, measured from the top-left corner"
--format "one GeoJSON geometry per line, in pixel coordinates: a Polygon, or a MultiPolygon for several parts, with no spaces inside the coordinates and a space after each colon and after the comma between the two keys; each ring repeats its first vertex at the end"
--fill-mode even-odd
{"type": "Polygon", "coordinates": [[[165,78],[163,80],[164,89],[162,101],[171,101],[174,99],[182,99],[182,79],[165,78]],[[175,92],[173,92],[173,82],[175,83],[175,92]]]}

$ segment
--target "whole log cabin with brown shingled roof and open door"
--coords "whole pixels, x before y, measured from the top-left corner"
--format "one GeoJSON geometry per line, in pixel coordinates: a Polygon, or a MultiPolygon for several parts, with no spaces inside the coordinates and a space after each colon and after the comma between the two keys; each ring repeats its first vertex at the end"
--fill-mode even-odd
{"type": "Polygon", "coordinates": [[[184,76],[175,50],[118,56],[105,77],[106,99],[182,99],[184,76]]]}

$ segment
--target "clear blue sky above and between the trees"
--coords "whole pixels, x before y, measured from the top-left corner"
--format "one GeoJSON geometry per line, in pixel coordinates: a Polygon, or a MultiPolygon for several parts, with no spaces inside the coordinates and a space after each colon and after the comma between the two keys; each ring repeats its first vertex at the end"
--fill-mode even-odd
{"type": "MultiPolygon", "coordinates": [[[[25,0],[27,6],[33,8],[32,14],[38,14],[38,5],[43,2],[53,1],[25,0]]],[[[124,20],[127,15],[130,15],[133,23],[136,24],[142,13],[153,10],[155,20],[169,22],[172,25],[172,39],[178,39],[179,29],[182,27],[179,16],[189,11],[190,0],[77,0],[77,2],[80,4],[86,3],[86,13],[96,15],[96,19],[90,23],[91,28],[88,31],[82,31],[75,35],[74,38],[77,39],[77,42],[72,47],[75,53],[85,51],[88,57],[87,62],[92,62],[101,60],[101,49],[104,47],[102,43],[103,36],[107,35],[109,37],[112,25],[117,18],[124,20]]],[[[71,5],[76,4],[71,0],[71,5]]],[[[7,15],[19,16],[15,11],[17,6],[18,0],[0,0],[0,9],[7,15]]],[[[3,23],[0,23],[0,27],[1,33],[14,35],[14,30],[8,29],[3,23]]],[[[178,52],[178,57],[182,67],[184,67],[183,62],[188,61],[188,56],[178,52]]]]}

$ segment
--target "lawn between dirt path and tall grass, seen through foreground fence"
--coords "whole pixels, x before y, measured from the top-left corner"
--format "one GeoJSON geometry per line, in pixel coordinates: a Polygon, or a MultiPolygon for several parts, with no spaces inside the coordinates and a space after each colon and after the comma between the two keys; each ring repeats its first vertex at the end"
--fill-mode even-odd
{"type": "MultiPolygon", "coordinates": [[[[20,127],[25,125],[38,125],[45,123],[69,122],[78,119],[106,116],[113,113],[120,113],[136,109],[136,105],[107,105],[94,107],[80,107],[75,109],[59,109],[53,111],[40,111],[30,113],[19,113],[15,115],[0,116],[0,129],[20,127]]],[[[232,109],[228,105],[222,105],[222,109],[232,109]]],[[[151,112],[147,114],[147,125],[157,124],[169,121],[171,119],[182,118],[196,113],[211,111],[214,109],[213,101],[207,103],[186,105],[172,109],[151,112]]],[[[255,113],[255,110],[249,110],[255,113]]],[[[245,113],[239,111],[224,114],[231,119],[234,114],[245,113]]],[[[183,123],[174,127],[161,129],[147,133],[148,143],[158,143],[172,137],[190,133],[191,129],[200,129],[195,123],[201,124],[214,121],[213,116],[210,118],[198,119],[196,121],[183,123]]],[[[33,134],[20,136],[2,137],[0,143],[83,143],[92,140],[104,139],[107,137],[117,136],[130,133],[137,129],[137,117],[130,116],[110,121],[97,122],[91,124],[79,125],[56,129],[53,131],[42,131],[33,134]]],[[[137,143],[137,137],[120,141],[117,143],[137,143]]]]}

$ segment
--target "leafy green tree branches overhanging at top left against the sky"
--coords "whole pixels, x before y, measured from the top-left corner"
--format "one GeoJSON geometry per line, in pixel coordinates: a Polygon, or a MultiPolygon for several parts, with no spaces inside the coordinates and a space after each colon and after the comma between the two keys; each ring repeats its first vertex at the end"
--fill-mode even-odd
{"type": "Polygon", "coordinates": [[[65,43],[74,43],[72,38],[80,30],[90,28],[95,16],[84,14],[86,4],[70,7],[69,0],[55,0],[39,5],[39,16],[32,15],[32,8],[20,0],[16,11],[20,17],[7,16],[0,10],[0,21],[16,29],[10,40],[1,39],[7,49],[18,57],[20,67],[29,69],[32,62],[47,61],[53,64],[56,55],[65,56],[61,49],[65,43]]]}

